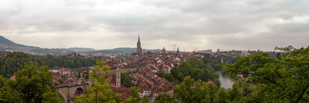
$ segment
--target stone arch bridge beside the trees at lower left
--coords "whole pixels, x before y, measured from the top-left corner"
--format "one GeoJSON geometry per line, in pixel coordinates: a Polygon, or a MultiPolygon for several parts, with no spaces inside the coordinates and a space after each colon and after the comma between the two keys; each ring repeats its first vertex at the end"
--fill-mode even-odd
{"type": "Polygon", "coordinates": [[[74,98],[75,95],[79,93],[86,93],[85,92],[85,85],[88,85],[87,83],[82,83],[82,84],[66,84],[66,85],[61,85],[58,86],[57,92],[61,94],[63,97],[62,102],[70,102],[72,98],[74,98]]]}

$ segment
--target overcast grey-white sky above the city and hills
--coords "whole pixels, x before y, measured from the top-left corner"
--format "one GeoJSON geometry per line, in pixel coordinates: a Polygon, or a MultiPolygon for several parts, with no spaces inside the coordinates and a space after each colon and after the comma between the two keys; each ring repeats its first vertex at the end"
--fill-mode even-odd
{"type": "Polygon", "coordinates": [[[40,48],[308,47],[309,0],[5,0],[0,35],[40,48]]]}

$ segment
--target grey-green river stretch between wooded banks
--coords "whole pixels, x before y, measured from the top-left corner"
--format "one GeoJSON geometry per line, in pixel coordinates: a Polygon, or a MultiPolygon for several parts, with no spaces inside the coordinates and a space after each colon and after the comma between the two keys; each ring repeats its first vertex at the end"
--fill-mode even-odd
{"type": "Polygon", "coordinates": [[[216,70],[217,73],[219,73],[219,80],[221,82],[221,87],[223,88],[232,88],[232,85],[234,84],[234,81],[226,77],[222,74],[221,70],[216,70]]]}

